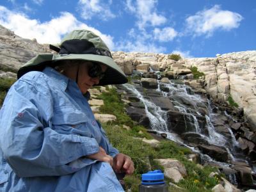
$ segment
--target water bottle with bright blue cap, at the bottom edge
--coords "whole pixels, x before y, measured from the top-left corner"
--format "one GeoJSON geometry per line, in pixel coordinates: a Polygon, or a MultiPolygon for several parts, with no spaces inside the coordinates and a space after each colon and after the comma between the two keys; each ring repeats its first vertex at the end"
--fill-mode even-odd
{"type": "Polygon", "coordinates": [[[139,192],[168,192],[168,186],[164,182],[164,174],[161,170],[142,174],[139,192]]]}

